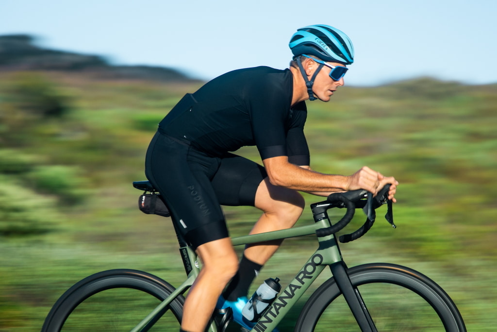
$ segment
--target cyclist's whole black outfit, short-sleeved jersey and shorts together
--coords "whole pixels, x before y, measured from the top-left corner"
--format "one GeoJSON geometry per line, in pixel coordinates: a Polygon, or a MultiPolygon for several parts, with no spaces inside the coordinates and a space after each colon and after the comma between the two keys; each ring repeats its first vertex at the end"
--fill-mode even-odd
{"type": "Polygon", "coordinates": [[[224,74],[185,95],[160,122],[145,173],[176,229],[194,247],[229,236],[221,205],[254,206],[264,168],[230,153],[256,145],[262,159],[309,165],[305,103],[291,107],[292,74],[269,67],[224,74]]]}

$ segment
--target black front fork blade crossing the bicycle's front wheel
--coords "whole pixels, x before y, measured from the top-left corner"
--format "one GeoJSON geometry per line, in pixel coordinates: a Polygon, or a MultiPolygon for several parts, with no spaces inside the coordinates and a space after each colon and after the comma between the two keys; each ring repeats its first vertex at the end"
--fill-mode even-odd
{"type": "Polygon", "coordinates": [[[357,324],[362,332],[378,332],[371,319],[366,304],[357,288],[354,288],[350,278],[348,277],[345,263],[343,261],[336,262],[330,265],[331,273],[335,278],[338,289],[343,294],[352,314],[354,315],[357,324]]]}

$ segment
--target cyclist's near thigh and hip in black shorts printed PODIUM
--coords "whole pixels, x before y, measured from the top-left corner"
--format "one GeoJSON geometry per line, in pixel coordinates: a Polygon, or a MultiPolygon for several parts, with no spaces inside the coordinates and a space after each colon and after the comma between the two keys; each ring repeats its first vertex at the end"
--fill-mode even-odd
{"type": "Polygon", "coordinates": [[[147,177],[161,192],[176,228],[195,246],[227,237],[209,174],[219,161],[167,137],[157,138],[147,153],[147,177]]]}

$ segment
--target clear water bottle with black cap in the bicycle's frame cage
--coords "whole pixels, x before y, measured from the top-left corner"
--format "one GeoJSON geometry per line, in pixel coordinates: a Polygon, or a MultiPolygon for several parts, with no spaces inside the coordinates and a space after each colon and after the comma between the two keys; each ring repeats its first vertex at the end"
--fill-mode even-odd
{"type": "Polygon", "coordinates": [[[242,315],[250,322],[257,322],[280,290],[279,278],[264,280],[242,309],[242,315]]]}

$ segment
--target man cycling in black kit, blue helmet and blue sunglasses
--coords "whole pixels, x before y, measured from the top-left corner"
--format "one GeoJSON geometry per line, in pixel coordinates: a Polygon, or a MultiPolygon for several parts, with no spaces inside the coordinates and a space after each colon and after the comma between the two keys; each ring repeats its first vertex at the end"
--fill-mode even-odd
{"type": "Polygon", "coordinates": [[[342,176],[309,166],[305,101],[328,102],[343,86],[354,56],[350,39],[331,26],[311,25],[298,29],[289,46],[288,69],[235,70],[185,95],[147,150],[146,176],[203,262],[184,304],[182,331],[204,331],[216,306],[232,307],[235,321],[250,329],[253,323],[241,315],[248,288],[280,244],[249,245],[239,262],[220,205],[260,209],[253,234],[293,226],[304,208],[298,191],[376,193],[391,183],[395,201],[393,177],[368,167],[342,176]],[[263,166],[231,153],[245,145],[257,147],[263,166]]]}

